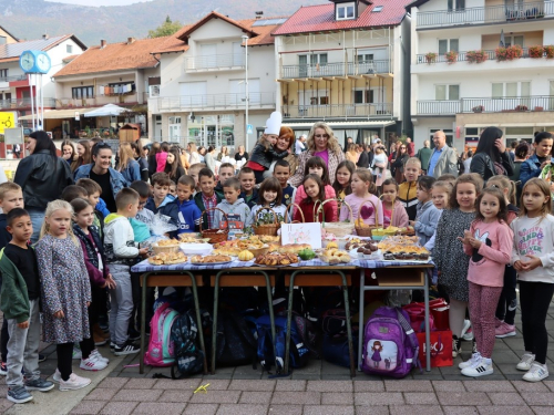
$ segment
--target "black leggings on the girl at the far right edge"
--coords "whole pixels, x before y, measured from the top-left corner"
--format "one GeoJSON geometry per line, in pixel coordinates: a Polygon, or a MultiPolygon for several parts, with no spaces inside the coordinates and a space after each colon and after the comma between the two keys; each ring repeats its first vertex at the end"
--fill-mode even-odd
{"type": "Polygon", "coordinates": [[[546,363],[548,333],[545,321],[553,294],[554,283],[520,281],[523,344],[541,364],[546,363]]]}

